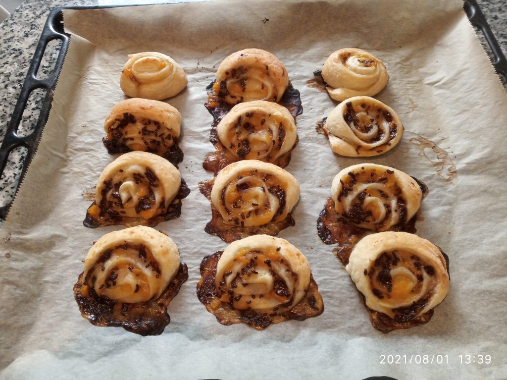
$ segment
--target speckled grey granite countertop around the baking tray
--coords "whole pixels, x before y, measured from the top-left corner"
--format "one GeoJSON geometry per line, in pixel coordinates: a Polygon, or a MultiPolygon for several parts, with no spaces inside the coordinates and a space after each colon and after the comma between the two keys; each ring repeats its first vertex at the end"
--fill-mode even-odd
{"type": "MultiPolygon", "coordinates": [[[[121,2],[122,4],[150,4],[170,3],[171,1],[144,1],[133,0],[121,2]]],[[[42,28],[49,12],[58,6],[83,6],[83,5],[111,5],[114,1],[107,0],[26,0],[4,22],[0,23],[0,142],[3,141],[12,112],[16,105],[21,86],[26,77],[28,66],[33,56],[42,28]]],[[[120,2],[116,2],[120,3],[120,2]]],[[[507,56],[507,1],[506,0],[478,0],[478,3],[488,21],[503,54],[507,56]]],[[[489,51],[482,33],[479,32],[479,40],[489,51]]],[[[43,61],[39,71],[48,73],[52,62],[56,57],[57,50],[53,46],[51,59],[43,61]]],[[[506,86],[505,78],[500,78],[506,86]]],[[[33,96],[23,114],[23,119],[18,128],[22,133],[29,133],[38,117],[38,110],[42,105],[43,96],[33,96]]],[[[26,156],[23,148],[14,150],[6,166],[6,170],[0,181],[0,206],[6,204],[13,196],[18,182],[22,163],[26,156]]]]}

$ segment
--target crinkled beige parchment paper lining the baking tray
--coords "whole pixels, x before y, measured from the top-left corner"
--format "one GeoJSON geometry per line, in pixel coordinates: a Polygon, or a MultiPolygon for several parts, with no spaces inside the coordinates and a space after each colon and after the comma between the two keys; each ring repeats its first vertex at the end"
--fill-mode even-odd
{"type": "Polygon", "coordinates": [[[50,119],[0,230],[2,376],[507,377],[507,97],[461,7],[459,1],[217,1],[65,11],[73,37],[50,119]],[[301,91],[299,144],[286,167],[301,184],[301,199],[296,226],[279,236],[307,256],[325,305],[319,317],[264,331],[220,325],[196,296],[203,256],[226,247],[204,232],[210,205],[197,189],[212,176],[201,166],[213,150],[205,86],[223,58],[247,47],[276,54],[301,91]],[[338,157],[315,132],[336,103],[306,82],[343,47],[372,52],[390,74],[377,98],[399,113],[406,132],[382,156],[338,157]],[[192,192],[182,217],[157,227],[174,239],[189,280],[169,306],[171,323],[150,337],[91,325],[73,294],[92,241],[122,228],[84,227],[90,201],[82,194],[114,159],[102,145],[102,125],[124,98],[119,76],[126,55],[140,51],[170,55],[189,77],[187,89],[167,101],[183,116],[179,168],[192,192]],[[333,177],[360,162],[394,166],[429,187],[417,234],[449,255],[451,289],[424,326],[387,335],[375,330],[334,246],[317,236],[333,177]],[[404,363],[417,354],[444,355],[447,364],[381,364],[381,355],[406,355],[404,363]],[[460,364],[459,355],[467,354],[491,355],[491,363],[460,364]]]}

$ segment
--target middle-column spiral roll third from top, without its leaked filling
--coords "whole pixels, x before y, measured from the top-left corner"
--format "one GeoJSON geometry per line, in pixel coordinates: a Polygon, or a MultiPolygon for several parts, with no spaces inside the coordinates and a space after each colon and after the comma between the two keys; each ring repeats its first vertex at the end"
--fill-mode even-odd
{"type": "Polygon", "coordinates": [[[228,165],[211,190],[211,202],[224,223],[241,227],[282,221],[298,200],[298,181],[288,171],[258,160],[228,165]]]}

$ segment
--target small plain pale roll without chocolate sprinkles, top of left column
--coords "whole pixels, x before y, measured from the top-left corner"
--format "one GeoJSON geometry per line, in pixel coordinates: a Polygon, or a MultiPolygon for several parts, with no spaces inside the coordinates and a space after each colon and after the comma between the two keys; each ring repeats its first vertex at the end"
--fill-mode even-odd
{"type": "Polygon", "coordinates": [[[120,77],[125,95],[153,100],[177,95],[187,82],[187,75],[174,59],[156,52],[129,54],[120,77]]]}

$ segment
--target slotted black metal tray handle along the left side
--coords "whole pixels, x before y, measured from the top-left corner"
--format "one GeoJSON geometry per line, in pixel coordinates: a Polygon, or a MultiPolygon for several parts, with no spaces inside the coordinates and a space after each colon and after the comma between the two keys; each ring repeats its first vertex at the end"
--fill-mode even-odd
{"type": "MultiPolygon", "coordinates": [[[[28,168],[33,154],[39,145],[42,131],[46,125],[49,117],[49,112],[51,110],[51,103],[53,101],[53,93],[56,82],[58,80],[58,76],[60,75],[63,60],[67,52],[69,35],[64,33],[62,21],[63,14],[61,12],[61,8],[55,8],[53,11],[51,11],[48,19],[46,20],[46,24],[44,25],[41,38],[39,39],[37,47],[35,48],[35,53],[33,54],[30,66],[28,67],[28,72],[26,74],[23,86],[21,87],[21,92],[16,102],[16,106],[14,107],[11,121],[7,127],[4,141],[0,146],[0,176],[4,173],[9,154],[18,147],[25,147],[27,149],[26,159],[23,163],[23,168],[21,170],[21,175],[16,187],[16,192],[19,189],[19,185],[23,181],[26,169],[28,168]],[[55,67],[53,68],[53,71],[47,76],[47,78],[38,79],[36,75],[44,57],[44,52],[48,43],[53,40],[61,41],[61,48],[60,52],[58,53],[58,57],[56,58],[55,67]],[[16,131],[18,129],[19,123],[21,122],[21,118],[23,117],[23,111],[25,110],[28,97],[33,90],[38,88],[46,89],[46,96],[43,100],[39,119],[37,120],[37,124],[35,125],[35,128],[32,132],[26,136],[20,136],[16,133],[16,131]]],[[[0,219],[5,220],[12,201],[13,199],[7,202],[7,204],[0,206],[0,219]]]]}

